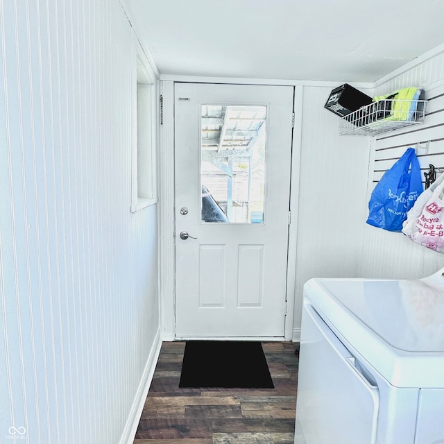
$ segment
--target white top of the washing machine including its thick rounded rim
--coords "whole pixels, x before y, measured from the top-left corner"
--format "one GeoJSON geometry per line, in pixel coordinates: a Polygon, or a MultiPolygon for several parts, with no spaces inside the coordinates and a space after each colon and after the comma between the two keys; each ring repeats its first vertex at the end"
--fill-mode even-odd
{"type": "Polygon", "coordinates": [[[344,345],[388,382],[444,388],[441,280],[311,279],[304,290],[344,345]]]}

